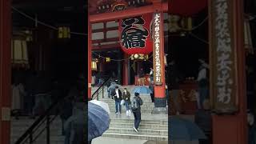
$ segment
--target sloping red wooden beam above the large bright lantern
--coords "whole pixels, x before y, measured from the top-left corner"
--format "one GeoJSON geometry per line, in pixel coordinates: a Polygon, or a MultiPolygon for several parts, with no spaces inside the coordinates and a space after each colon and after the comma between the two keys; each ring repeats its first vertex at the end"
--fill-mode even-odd
{"type": "MultiPolygon", "coordinates": [[[[112,13],[104,14],[92,14],[90,15],[89,21],[91,23],[112,21],[119,18],[130,18],[142,14],[154,13],[155,9],[153,5],[136,7],[129,10],[115,11],[112,13]]],[[[162,11],[168,11],[168,2],[162,3],[162,11]]]]}

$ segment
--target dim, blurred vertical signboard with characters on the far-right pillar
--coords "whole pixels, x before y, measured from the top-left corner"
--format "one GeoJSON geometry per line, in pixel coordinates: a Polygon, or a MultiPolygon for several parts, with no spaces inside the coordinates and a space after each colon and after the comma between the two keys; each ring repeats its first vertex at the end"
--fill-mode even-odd
{"type": "Polygon", "coordinates": [[[232,114],[237,106],[237,62],[234,43],[233,0],[210,1],[211,10],[211,92],[213,109],[217,113],[232,114]]]}

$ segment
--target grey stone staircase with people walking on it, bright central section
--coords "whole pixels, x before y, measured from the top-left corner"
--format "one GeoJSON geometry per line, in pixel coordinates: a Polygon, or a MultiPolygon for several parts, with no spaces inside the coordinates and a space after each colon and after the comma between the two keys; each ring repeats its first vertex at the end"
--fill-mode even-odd
{"type": "MultiPolygon", "coordinates": [[[[135,86],[124,86],[130,91],[133,97],[135,86]]],[[[92,94],[97,90],[97,87],[92,89],[92,94]]],[[[142,122],[138,128],[138,134],[134,131],[134,115],[126,116],[126,107],[122,106],[122,114],[115,114],[114,100],[108,98],[106,88],[104,89],[103,98],[102,91],[99,92],[99,100],[106,102],[110,107],[110,128],[102,137],[107,138],[128,138],[142,139],[151,141],[168,141],[168,117],[166,114],[151,114],[154,108],[154,103],[151,102],[150,95],[141,95],[143,100],[142,105],[142,122]]]]}

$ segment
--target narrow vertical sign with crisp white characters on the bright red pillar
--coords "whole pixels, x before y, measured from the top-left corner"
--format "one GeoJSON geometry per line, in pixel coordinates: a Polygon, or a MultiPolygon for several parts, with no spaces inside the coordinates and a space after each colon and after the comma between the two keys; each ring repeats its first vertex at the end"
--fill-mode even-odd
{"type": "Polygon", "coordinates": [[[153,19],[153,39],[154,39],[154,83],[155,85],[162,85],[162,43],[161,43],[161,13],[155,13],[153,19]]]}

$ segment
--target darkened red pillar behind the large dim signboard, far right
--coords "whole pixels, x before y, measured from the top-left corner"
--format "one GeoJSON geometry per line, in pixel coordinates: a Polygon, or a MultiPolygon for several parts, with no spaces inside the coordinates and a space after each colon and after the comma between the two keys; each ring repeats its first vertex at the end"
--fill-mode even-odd
{"type": "MultiPolygon", "coordinates": [[[[218,1],[216,1],[218,2],[218,1]]],[[[214,115],[213,116],[213,143],[214,144],[244,144],[247,143],[247,122],[246,122],[246,76],[245,76],[245,48],[243,42],[243,1],[241,0],[226,0],[231,3],[230,6],[234,6],[234,10],[228,11],[229,18],[233,18],[233,21],[228,27],[234,31],[231,35],[232,49],[237,51],[235,54],[235,65],[237,66],[237,86],[236,87],[236,99],[238,100],[238,113],[234,115],[214,115]]],[[[223,6],[223,5],[222,5],[223,6]]],[[[213,2],[209,1],[209,19],[210,19],[210,46],[214,46],[212,39],[212,31],[215,27],[212,22],[216,20],[212,16],[212,9],[217,9],[213,6],[213,2]]],[[[222,8],[218,7],[218,10],[222,8]]],[[[225,15],[224,15],[225,16],[225,15]]],[[[213,47],[216,49],[216,47],[213,47]]],[[[214,55],[210,54],[210,58],[214,55]]],[[[211,67],[213,68],[213,67],[211,67]]],[[[212,78],[213,79],[213,78],[212,78]]],[[[211,81],[212,82],[212,81],[211,81]]],[[[211,90],[211,94],[212,90],[211,90]]],[[[216,95],[212,95],[216,97],[216,95]]]]}

